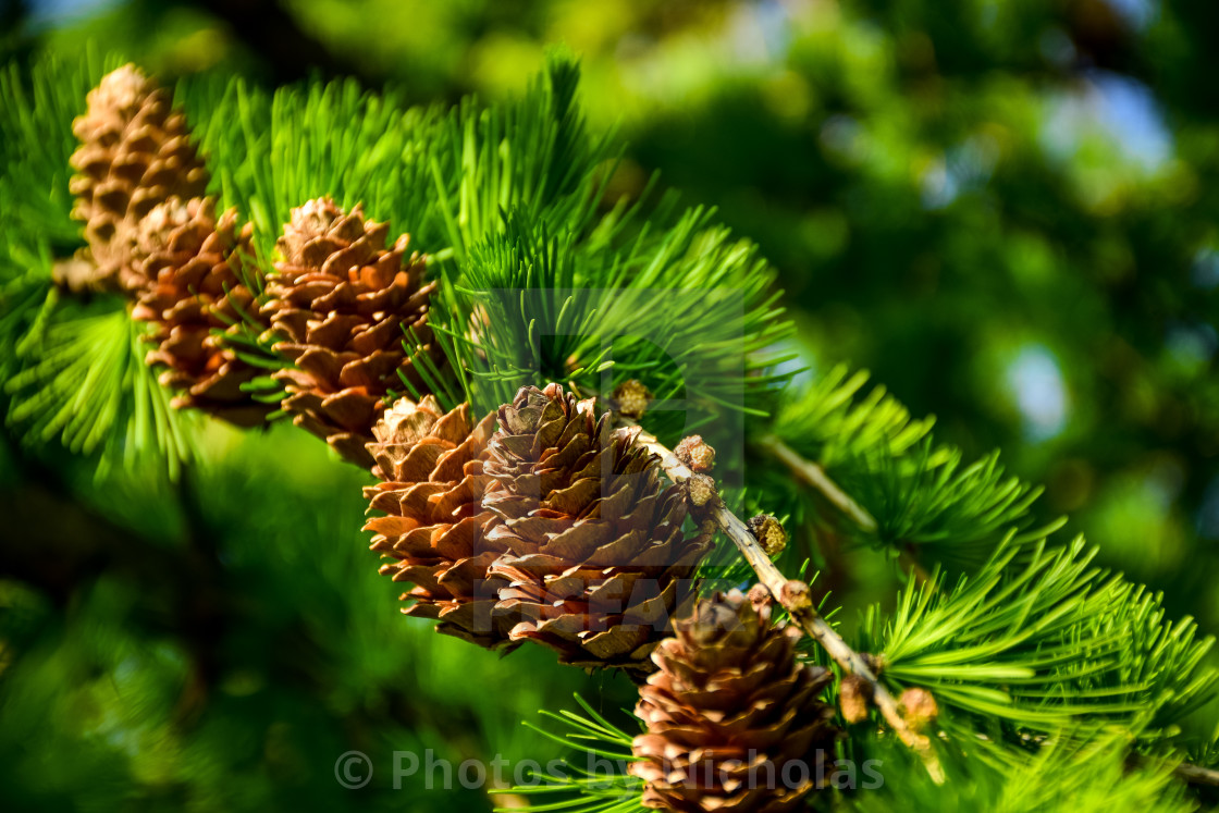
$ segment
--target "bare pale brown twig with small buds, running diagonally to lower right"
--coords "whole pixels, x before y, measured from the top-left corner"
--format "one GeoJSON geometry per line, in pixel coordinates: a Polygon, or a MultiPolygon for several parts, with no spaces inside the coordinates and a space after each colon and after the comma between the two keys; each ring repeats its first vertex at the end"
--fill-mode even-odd
{"type": "MultiPolygon", "coordinates": [[[[635,422],[627,418],[619,418],[619,421],[623,424],[638,425],[635,422]]],[[[661,464],[663,466],[666,474],[668,474],[669,479],[674,483],[685,483],[694,475],[694,472],[681,463],[681,461],[679,461],[672,451],[666,449],[664,445],[647,430],[640,430],[638,442],[642,444],[659,456],[661,464]]],[[[758,544],[753,534],[750,533],[750,529],[745,525],[745,523],[741,522],[736,514],[729,511],[722,500],[717,501],[711,516],[719,529],[733,540],[736,547],[745,556],[745,559],[750,563],[750,567],[752,567],[753,572],[757,573],[758,579],[770,591],[770,595],[773,595],[775,600],[784,606],[792,620],[795,620],[800,628],[805,630],[805,633],[813,637],[813,640],[820,644],[829,656],[834,658],[834,662],[842,669],[851,674],[859,675],[872,684],[873,702],[876,705],[876,708],[880,709],[880,714],[885,718],[885,722],[889,723],[902,742],[919,754],[923,759],[923,764],[926,765],[928,773],[931,774],[931,779],[936,784],[944,783],[944,768],[940,765],[940,761],[935,756],[935,751],[931,748],[931,741],[907,725],[906,719],[901,714],[901,709],[897,707],[897,701],[891,694],[889,694],[889,690],[884,686],[884,684],[876,679],[876,675],[872,673],[859,653],[852,650],[851,646],[842,640],[842,636],[839,635],[834,628],[817,613],[813,608],[812,600],[808,596],[807,585],[803,583],[794,583],[783,575],[783,573],[779,572],[779,568],[775,567],[774,562],[770,561],[770,557],[766,555],[766,551],[762,550],[762,546],[758,544]]]]}

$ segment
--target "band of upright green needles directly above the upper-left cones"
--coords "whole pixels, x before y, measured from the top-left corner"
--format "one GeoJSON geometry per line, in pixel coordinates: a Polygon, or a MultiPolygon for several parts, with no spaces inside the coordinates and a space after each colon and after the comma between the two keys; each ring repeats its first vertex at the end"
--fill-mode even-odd
{"type": "Polygon", "coordinates": [[[219,76],[187,83],[179,100],[221,202],[254,223],[265,267],[290,211],[323,195],[349,210],[363,204],[438,260],[462,260],[510,208],[572,229],[590,216],[608,137],[589,141],[578,79],[556,54],[522,98],[495,106],[408,107],[354,80],[268,95],[219,76]]]}

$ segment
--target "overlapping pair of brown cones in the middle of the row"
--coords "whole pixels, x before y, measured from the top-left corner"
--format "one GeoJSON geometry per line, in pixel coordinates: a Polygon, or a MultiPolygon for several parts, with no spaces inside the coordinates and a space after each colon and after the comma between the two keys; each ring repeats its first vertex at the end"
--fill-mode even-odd
{"type": "Polygon", "coordinates": [[[401,400],[373,427],[366,490],[382,572],[406,612],[483,646],[531,640],[564,663],[642,674],[691,595],[706,535],[630,429],[551,384],[477,423],[401,400]],[[496,418],[499,429],[495,430],[496,418]]]}

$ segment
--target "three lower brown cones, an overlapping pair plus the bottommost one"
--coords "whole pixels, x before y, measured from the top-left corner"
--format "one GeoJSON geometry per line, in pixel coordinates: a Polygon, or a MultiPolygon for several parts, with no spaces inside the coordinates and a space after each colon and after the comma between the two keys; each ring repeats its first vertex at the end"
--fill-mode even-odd
{"type": "Polygon", "coordinates": [[[403,399],[368,445],[372,550],[413,585],[403,612],[441,631],[646,680],[645,806],[794,809],[834,761],[831,674],[797,659],[800,630],[770,624],[763,588],[685,600],[709,540],[683,531],[684,492],[636,433],[557,384],[482,419],[403,399]]]}

